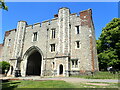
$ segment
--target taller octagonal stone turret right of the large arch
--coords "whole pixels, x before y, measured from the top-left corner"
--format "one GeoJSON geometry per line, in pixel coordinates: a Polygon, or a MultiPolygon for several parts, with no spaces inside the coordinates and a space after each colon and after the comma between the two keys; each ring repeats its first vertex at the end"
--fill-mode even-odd
{"type": "Polygon", "coordinates": [[[70,23],[70,10],[68,8],[60,8],[58,13],[58,55],[68,55],[70,49],[69,40],[69,23],[70,23]]]}

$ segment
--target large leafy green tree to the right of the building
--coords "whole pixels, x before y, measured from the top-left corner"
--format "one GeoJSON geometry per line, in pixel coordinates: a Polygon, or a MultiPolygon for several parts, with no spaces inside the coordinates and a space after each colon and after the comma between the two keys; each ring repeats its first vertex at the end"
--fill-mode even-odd
{"type": "Polygon", "coordinates": [[[114,18],[102,29],[97,51],[100,70],[108,66],[120,69],[120,18],[114,18]]]}

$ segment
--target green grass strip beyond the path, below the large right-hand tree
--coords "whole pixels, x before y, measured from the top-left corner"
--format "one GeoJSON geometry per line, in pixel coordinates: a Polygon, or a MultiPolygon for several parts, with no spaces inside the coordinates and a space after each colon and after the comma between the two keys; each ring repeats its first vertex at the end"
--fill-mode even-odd
{"type": "Polygon", "coordinates": [[[81,75],[81,76],[71,76],[71,77],[79,77],[79,78],[86,78],[86,79],[118,79],[119,74],[112,74],[109,72],[96,72],[93,76],[92,75],[81,75]]]}

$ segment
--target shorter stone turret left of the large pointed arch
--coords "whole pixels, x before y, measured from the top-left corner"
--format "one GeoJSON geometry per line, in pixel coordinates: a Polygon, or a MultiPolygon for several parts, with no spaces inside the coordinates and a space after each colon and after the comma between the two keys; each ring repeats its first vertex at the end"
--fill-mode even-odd
{"type": "Polygon", "coordinates": [[[15,34],[15,41],[14,41],[14,47],[13,47],[13,53],[12,53],[12,59],[15,60],[14,70],[17,67],[17,63],[19,58],[22,57],[22,50],[24,45],[24,38],[25,38],[25,28],[26,28],[26,22],[25,21],[19,21],[17,25],[17,31],[15,34]]]}

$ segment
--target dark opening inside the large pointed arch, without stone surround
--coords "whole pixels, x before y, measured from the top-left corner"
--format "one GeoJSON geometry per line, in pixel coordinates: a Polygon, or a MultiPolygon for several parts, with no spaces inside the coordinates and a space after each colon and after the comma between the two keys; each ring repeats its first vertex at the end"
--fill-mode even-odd
{"type": "Polygon", "coordinates": [[[41,75],[42,57],[38,51],[33,52],[27,59],[26,75],[41,75]]]}

